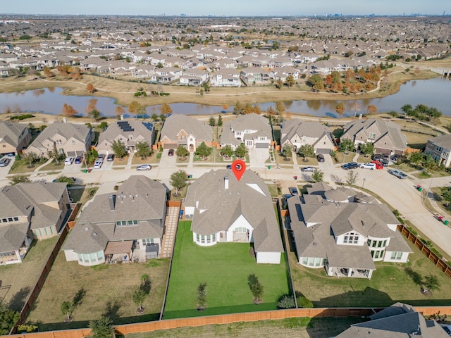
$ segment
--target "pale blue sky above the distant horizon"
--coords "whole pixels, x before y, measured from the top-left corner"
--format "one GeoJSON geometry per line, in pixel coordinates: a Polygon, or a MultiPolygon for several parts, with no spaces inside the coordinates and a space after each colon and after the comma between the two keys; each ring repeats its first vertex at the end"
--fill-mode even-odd
{"type": "Polygon", "coordinates": [[[451,15],[451,0],[1,0],[1,13],[90,15],[451,15]]]}

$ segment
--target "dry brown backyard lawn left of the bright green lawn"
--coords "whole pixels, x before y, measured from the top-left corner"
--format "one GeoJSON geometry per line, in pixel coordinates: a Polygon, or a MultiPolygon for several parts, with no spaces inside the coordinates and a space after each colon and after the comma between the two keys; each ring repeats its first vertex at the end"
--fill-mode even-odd
{"type": "Polygon", "coordinates": [[[41,331],[87,327],[89,320],[101,315],[109,315],[116,325],[157,320],[168,270],[168,259],[89,268],[78,262],[66,262],[61,251],[27,320],[37,323],[41,331]],[[144,274],[149,276],[152,286],[143,304],[144,315],[137,315],[132,292],[144,274]],[[73,311],[73,322],[63,323],[61,303],[72,301],[76,294],[81,294],[82,300],[73,311]]]}

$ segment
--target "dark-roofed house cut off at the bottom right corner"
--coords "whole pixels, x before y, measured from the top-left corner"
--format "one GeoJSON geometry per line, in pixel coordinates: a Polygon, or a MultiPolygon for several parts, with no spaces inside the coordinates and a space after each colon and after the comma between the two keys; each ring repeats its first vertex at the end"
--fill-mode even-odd
{"type": "Polygon", "coordinates": [[[424,318],[413,306],[394,303],[370,315],[371,320],[352,324],[335,338],[446,338],[450,337],[435,320],[424,318]]]}

